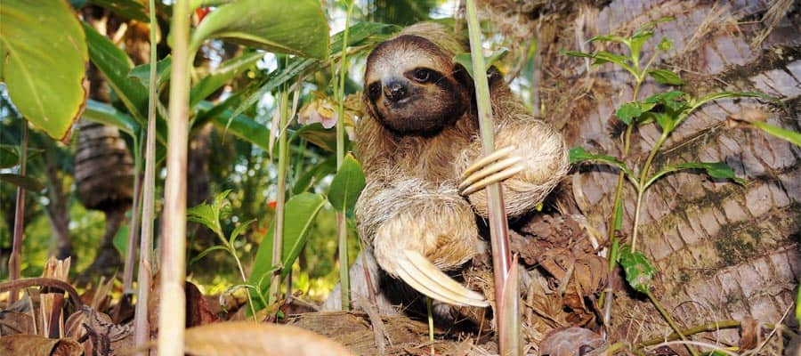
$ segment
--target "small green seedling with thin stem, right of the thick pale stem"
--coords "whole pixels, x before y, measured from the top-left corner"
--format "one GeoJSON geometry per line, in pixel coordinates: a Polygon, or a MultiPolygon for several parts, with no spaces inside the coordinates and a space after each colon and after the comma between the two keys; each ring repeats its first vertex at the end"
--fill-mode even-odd
{"type": "MultiPolygon", "coordinates": [[[[228,235],[228,238],[225,237],[223,233],[223,225],[220,223],[221,218],[223,218],[226,214],[230,214],[230,203],[226,199],[228,194],[231,190],[225,190],[220,194],[217,194],[214,197],[214,201],[211,204],[201,203],[198,206],[193,206],[187,209],[186,211],[186,218],[190,222],[193,223],[200,223],[203,226],[206,226],[211,231],[214,231],[214,235],[220,239],[220,245],[214,245],[213,247],[208,247],[203,252],[199,253],[197,256],[192,258],[190,264],[197,262],[204,256],[217,251],[223,250],[228,252],[229,255],[233,256],[234,261],[237,263],[237,267],[239,268],[239,277],[242,278],[242,284],[245,287],[252,288],[252,286],[247,285],[247,277],[245,277],[245,270],[242,269],[242,262],[239,261],[239,255],[237,255],[237,238],[242,235],[243,232],[247,230],[247,227],[250,226],[251,223],[255,222],[255,219],[248,220],[247,222],[240,223],[239,226],[234,228],[231,231],[231,234],[228,235]]],[[[247,305],[250,307],[251,315],[255,320],[255,307],[253,304],[253,300],[250,297],[250,294],[247,294],[247,305]]]]}

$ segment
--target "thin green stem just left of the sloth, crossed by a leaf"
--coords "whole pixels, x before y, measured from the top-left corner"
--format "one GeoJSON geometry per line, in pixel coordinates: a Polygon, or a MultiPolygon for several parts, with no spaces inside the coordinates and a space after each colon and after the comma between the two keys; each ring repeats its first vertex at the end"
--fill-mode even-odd
{"type": "MultiPolygon", "coordinates": [[[[336,85],[336,170],[339,171],[344,160],[344,80],[347,66],[348,28],[351,27],[353,4],[348,4],[345,14],[345,28],[342,36],[342,51],[339,59],[339,77],[336,85]]],[[[348,273],[348,221],[344,212],[336,213],[336,235],[338,237],[339,254],[339,287],[342,292],[342,310],[351,309],[351,276],[348,273]]]]}

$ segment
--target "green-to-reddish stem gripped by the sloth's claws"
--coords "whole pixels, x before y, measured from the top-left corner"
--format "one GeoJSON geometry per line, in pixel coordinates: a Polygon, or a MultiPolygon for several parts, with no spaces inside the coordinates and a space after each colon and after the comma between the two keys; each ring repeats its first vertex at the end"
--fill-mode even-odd
{"type": "MultiPolygon", "coordinates": [[[[487,81],[484,56],[481,53],[481,25],[476,14],[475,0],[467,0],[467,29],[470,34],[470,53],[473,58],[473,80],[475,82],[475,95],[481,129],[481,143],[484,154],[489,155],[495,150],[495,126],[492,123],[490,85],[487,81]]],[[[506,209],[504,208],[504,198],[499,183],[493,183],[487,187],[487,198],[490,210],[490,245],[492,247],[492,267],[495,277],[496,311],[503,311],[506,308],[506,305],[504,305],[504,286],[506,286],[506,279],[509,277],[512,255],[509,250],[506,209]]],[[[513,303],[518,303],[519,298],[510,298],[510,300],[513,303]]],[[[519,310],[514,306],[511,307],[514,310],[519,310]]],[[[502,355],[521,354],[522,350],[515,349],[516,346],[519,346],[519,343],[507,343],[507,340],[513,340],[513,338],[504,335],[508,330],[513,330],[514,328],[502,327],[506,323],[517,320],[506,320],[502,317],[503,315],[504,313],[501,312],[497,318],[500,353],[502,355]]]]}

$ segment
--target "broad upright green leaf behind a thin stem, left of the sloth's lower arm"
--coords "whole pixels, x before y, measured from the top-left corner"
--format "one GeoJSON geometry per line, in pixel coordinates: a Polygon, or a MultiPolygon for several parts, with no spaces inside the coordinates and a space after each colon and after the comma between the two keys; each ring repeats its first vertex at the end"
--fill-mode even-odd
{"type": "MultiPolygon", "coordinates": [[[[325,204],[325,197],[312,193],[298,194],[287,200],[287,204],[284,205],[284,236],[280,262],[284,268],[281,270],[281,277],[286,277],[287,272],[291,270],[292,263],[295,263],[295,259],[300,255],[301,249],[306,243],[314,218],[325,204]]],[[[270,289],[270,277],[266,274],[275,271],[275,266],[279,264],[279,262],[273,263],[272,261],[274,233],[275,222],[271,223],[267,235],[262,239],[262,243],[256,251],[253,271],[250,273],[250,278],[247,279],[248,284],[253,286],[259,286],[261,282],[263,295],[270,289]]],[[[254,296],[256,310],[263,308],[264,305],[259,302],[258,293],[255,291],[251,293],[254,296]]]]}

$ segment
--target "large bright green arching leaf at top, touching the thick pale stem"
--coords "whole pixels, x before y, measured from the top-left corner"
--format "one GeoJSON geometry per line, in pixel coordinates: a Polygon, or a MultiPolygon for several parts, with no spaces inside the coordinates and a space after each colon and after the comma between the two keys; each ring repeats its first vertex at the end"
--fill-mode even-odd
{"type": "Polygon", "coordinates": [[[191,36],[195,53],[206,39],[223,38],[273,53],[323,59],[328,21],[316,0],[239,0],[210,12],[191,36]]]}

